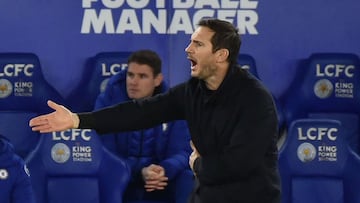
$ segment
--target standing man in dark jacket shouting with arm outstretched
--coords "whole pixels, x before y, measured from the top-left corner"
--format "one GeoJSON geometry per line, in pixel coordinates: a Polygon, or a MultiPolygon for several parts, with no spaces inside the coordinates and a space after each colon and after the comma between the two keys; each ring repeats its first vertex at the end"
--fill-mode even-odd
{"type": "Polygon", "coordinates": [[[273,98],[237,65],[241,39],[234,25],[218,19],[198,25],[185,49],[188,81],[165,94],[93,112],[72,113],[49,101],[55,111],[31,119],[32,130],[122,132],[185,119],[193,143],[189,165],[197,182],[192,203],[279,203],[273,98]]]}

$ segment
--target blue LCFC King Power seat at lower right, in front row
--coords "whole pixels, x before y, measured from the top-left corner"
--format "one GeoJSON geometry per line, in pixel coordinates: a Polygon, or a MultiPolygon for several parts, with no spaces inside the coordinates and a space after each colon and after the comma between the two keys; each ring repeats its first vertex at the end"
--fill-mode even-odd
{"type": "Polygon", "coordinates": [[[359,203],[360,157],[337,120],[299,119],[279,154],[283,203],[359,203]]]}

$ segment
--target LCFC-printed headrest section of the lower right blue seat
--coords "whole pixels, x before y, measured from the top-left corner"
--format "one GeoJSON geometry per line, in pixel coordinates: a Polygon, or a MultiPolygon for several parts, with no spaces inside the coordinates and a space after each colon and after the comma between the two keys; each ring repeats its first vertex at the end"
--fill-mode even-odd
{"type": "Polygon", "coordinates": [[[343,126],[337,120],[299,119],[289,128],[279,154],[283,173],[341,174],[350,150],[343,126]],[[285,169],[284,169],[285,168],[285,169]]]}

